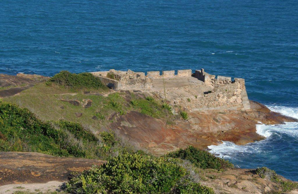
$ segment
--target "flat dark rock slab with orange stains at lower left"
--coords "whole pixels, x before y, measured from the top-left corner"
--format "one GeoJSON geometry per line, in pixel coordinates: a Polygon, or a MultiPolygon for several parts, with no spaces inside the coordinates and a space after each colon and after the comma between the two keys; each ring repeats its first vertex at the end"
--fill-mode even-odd
{"type": "Polygon", "coordinates": [[[72,172],[88,170],[105,161],[55,157],[37,152],[0,152],[0,186],[13,183],[66,181],[72,172]]]}

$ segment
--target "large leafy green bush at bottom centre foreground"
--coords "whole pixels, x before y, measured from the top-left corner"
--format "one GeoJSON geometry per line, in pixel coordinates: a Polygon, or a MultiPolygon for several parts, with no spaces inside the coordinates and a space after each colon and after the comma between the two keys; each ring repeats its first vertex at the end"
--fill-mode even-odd
{"type": "Polygon", "coordinates": [[[66,184],[69,193],[214,193],[192,182],[179,160],[124,154],[76,175],[66,184]]]}

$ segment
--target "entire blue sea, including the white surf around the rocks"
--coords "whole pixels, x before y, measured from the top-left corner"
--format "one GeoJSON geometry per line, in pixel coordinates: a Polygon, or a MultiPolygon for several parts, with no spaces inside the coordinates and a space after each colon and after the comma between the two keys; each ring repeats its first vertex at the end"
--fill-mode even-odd
{"type": "MultiPolygon", "coordinates": [[[[1,0],[0,73],[204,68],[245,78],[249,99],[298,117],[297,10],[296,0],[1,0]]],[[[297,123],[258,132],[267,139],[211,151],[298,181],[297,123]]]]}

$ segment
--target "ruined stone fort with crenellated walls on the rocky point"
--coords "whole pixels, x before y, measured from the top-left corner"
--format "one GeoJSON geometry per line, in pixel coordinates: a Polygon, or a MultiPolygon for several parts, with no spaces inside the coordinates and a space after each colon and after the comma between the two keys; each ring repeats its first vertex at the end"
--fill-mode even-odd
{"type": "Polygon", "coordinates": [[[189,110],[240,110],[250,109],[244,79],[215,76],[201,70],[144,72],[116,71],[91,72],[112,88],[155,92],[162,98],[189,110]]]}

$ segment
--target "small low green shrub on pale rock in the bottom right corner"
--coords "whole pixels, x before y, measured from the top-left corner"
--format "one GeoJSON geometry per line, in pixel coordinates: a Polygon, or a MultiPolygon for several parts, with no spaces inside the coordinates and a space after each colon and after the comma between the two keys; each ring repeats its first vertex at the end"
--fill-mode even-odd
{"type": "Polygon", "coordinates": [[[274,170],[267,167],[257,168],[254,170],[254,173],[259,175],[262,179],[269,178],[272,182],[278,184],[277,188],[280,188],[283,192],[298,188],[298,183],[283,181],[274,170]]]}

